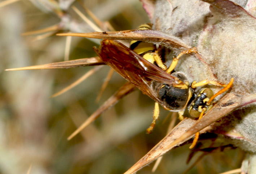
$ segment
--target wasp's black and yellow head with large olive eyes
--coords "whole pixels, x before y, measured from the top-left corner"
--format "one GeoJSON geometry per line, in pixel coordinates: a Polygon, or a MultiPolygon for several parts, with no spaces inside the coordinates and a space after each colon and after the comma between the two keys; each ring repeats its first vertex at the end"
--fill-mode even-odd
{"type": "Polygon", "coordinates": [[[206,103],[210,100],[212,96],[213,91],[210,88],[204,88],[203,90],[201,90],[189,108],[190,116],[198,118],[203,109],[208,108],[208,105],[206,103]]]}

